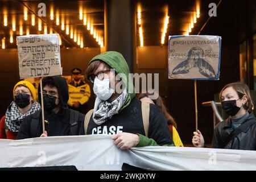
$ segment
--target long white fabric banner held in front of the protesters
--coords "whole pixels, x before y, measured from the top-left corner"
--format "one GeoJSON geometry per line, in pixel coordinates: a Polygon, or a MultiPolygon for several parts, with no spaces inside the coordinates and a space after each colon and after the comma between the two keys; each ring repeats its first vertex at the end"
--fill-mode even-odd
{"type": "Polygon", "coordinates": [[[119,150],[110,135],[0,139],[0,167],[76,166],[121,170],[256,170],[256,151],[193,147],[134,147],[119,150]]]}

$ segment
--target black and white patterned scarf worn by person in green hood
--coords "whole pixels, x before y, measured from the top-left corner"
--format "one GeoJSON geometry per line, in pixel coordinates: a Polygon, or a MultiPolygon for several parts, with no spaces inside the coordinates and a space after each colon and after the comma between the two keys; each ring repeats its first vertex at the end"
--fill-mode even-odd
{"type": "Polygon", "coordinates": [[[122,94],[118,96],[113,102],[102,101],[100,98],[96,97],[94,110],[93,110],[93,121],[97,125],[101,125],[108,118],[112,118],[114,114],[122,108],[123,104],[128,97],[127,89],[123,89],[122,94]]]}

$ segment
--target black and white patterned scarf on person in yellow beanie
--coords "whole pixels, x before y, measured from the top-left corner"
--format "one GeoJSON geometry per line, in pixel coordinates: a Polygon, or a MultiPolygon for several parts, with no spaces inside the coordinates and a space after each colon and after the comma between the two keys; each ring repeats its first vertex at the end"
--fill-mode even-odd
{"type": "Polygon", "coordinates": [[[30,110],[28,110],[27,113],[22,114],[20,113],[16,103],[14,101],[11,102],[10,106],[8,107],[5,113],[5,125],[7,129],[13,133],[18,133],[23,118],[35,113],[40,109],[41,109],[40,104],[34,101],[32,102],[30,110]]]}

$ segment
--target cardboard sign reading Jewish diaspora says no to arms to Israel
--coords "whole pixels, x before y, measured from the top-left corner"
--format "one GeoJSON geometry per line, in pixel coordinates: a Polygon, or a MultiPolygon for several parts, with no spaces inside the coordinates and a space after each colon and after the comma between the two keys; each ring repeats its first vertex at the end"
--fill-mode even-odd
{"type": "Polygon", "coordinates": [[[169,36],[168,44],[168,78],[219,80],[220,36],[169,36]]]}

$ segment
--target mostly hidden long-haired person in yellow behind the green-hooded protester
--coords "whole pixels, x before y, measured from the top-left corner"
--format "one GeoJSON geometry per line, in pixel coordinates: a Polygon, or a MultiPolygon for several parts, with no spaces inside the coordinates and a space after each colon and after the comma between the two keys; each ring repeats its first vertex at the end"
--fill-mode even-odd
{"type": "Polygon", "coordinates": [[[148,93],[141,93],[138,95],[138,99],[142,102],[146,102],[148,104],[154,104],[159,107],[159,109],[164,114],[164,117],[166,117],[166,121],[168,123],[168,128],[170,130],[171,138],[174,140],[174,144],[176,147],[184,147],[183,143],[181,142],[179,133],[177,133],[177,123],[175,119],[172,117],[170,113],[168,113],[166,106],[164,105],[164,102],[162,100],[162,97],[158,96],[158,98],[150,99],[148,98],[148,93]]]}

